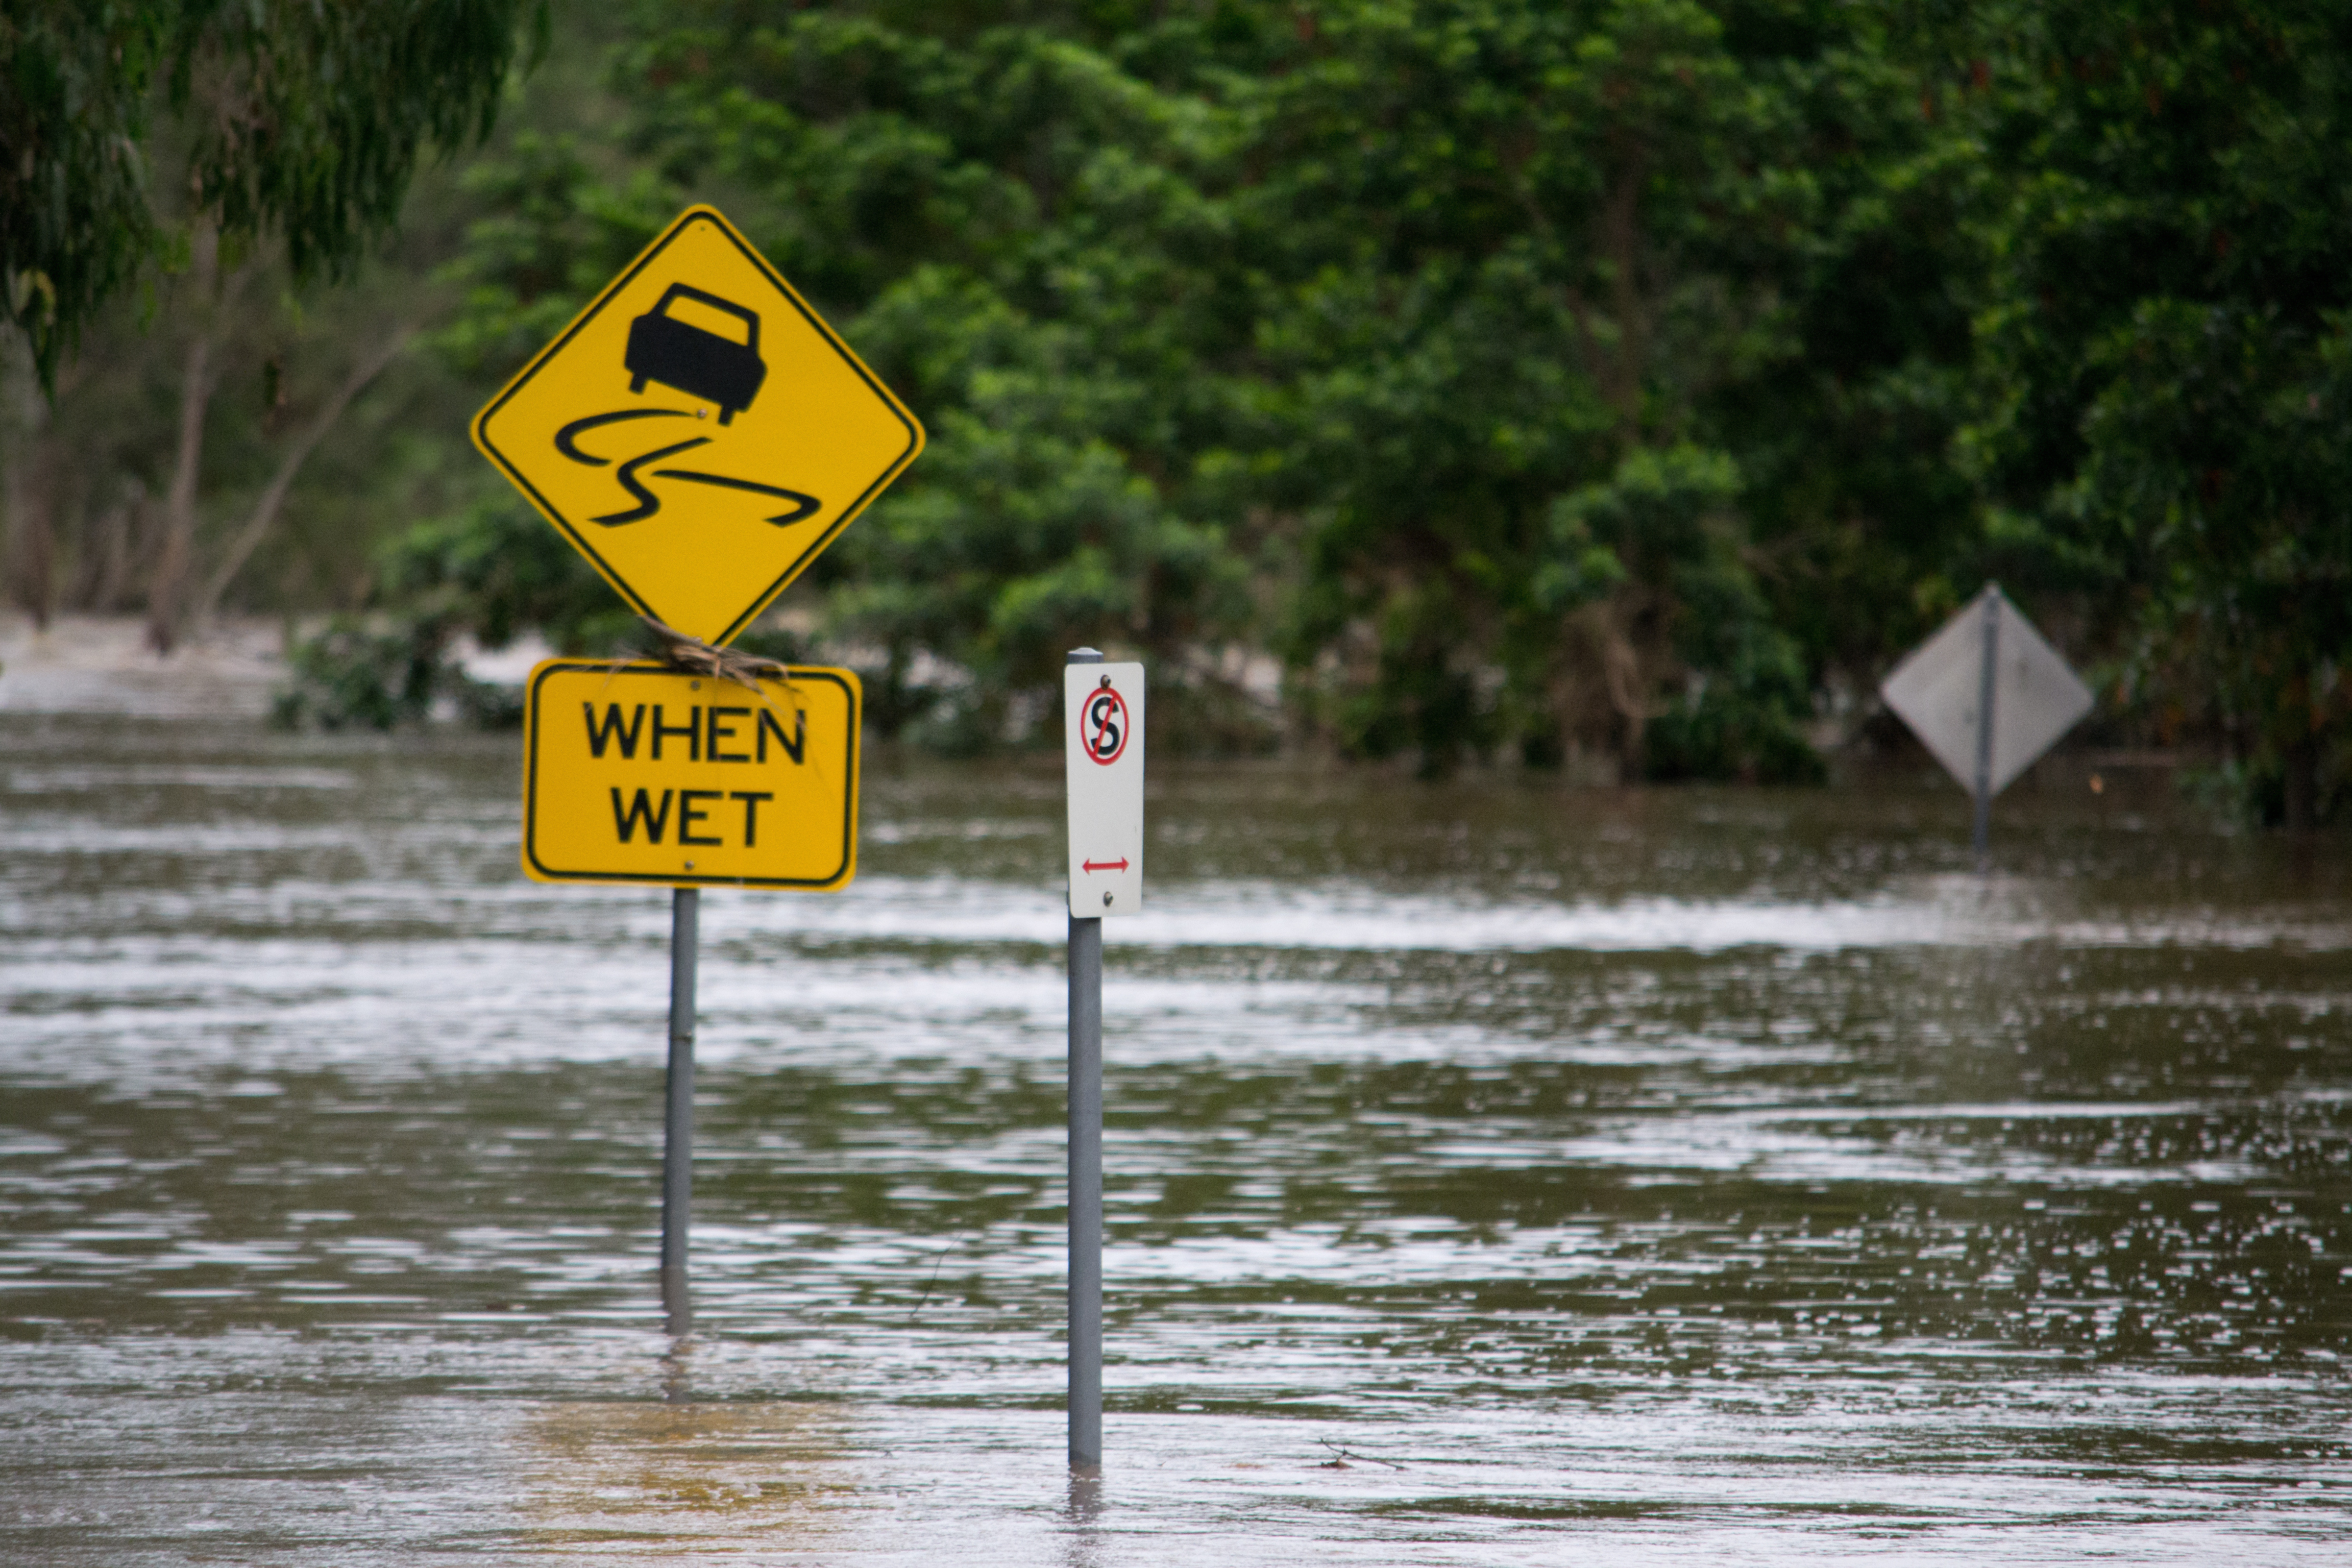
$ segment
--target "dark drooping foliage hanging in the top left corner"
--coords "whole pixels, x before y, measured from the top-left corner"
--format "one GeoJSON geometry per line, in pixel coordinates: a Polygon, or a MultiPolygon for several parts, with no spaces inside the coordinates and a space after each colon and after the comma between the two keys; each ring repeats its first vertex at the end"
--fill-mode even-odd
{"type": "Polygon", "coordinates": [[[0,284],[42,378],[186,221],[348,266],[428,141],[489,132],[527,21],[546,0],[9,0],[0,284]]]}

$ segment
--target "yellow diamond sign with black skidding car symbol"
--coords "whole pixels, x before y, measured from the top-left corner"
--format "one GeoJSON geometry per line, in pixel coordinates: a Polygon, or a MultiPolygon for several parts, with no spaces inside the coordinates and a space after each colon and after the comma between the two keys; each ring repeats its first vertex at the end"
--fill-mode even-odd
{"type": "Polygon", "coordinates": [[[640,614],[724,644],[922,451],[922,425],[710,207],[473,421],[640,614]]]}

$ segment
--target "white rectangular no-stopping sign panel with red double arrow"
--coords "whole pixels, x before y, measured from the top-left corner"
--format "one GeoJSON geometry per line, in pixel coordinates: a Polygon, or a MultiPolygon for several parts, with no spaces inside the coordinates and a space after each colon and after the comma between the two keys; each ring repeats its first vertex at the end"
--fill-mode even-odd
{"type": "Polygon", "coordinates": [[[1070,914],[1143,912],[1143,665],[1068,665],[1070,914]]]}

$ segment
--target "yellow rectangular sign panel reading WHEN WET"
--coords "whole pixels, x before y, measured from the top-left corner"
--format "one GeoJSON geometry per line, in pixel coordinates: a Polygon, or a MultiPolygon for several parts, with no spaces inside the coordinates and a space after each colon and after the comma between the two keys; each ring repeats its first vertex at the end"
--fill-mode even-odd
{"type": "Polygon", "coordinates": [[[858,677],[760,691],[654,663],[550,658],[522,708],[534,882],[837,889],[858,858],[858,677]]]}

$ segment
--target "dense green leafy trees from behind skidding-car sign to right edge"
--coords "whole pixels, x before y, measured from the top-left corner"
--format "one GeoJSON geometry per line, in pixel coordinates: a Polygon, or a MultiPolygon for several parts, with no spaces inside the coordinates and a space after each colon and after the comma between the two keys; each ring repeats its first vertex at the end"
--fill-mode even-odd
{"type": "MultiPolygon", "coordinates": [[[[1094,642],[1171,743],[1804,780],[1999,576],[2103,733],[2352,802],[2338,7],[564,21],[447,197],[435,360],[487,393],[722,205],[931,430],[779,607],[884,729],[1023,743],[1094,642]]],[[[435,658],[628,639],[487,475],[355,588],[435,658]]]]}

